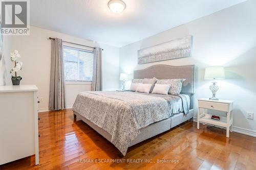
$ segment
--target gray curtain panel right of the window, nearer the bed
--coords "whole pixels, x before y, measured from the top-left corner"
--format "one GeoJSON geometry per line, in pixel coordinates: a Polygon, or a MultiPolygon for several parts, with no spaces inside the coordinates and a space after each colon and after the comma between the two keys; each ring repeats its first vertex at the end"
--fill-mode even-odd
{"type": "Polygon", "coordinates": [[[102,74],[101,74],[101,58],[102,58],[102,49],[95,47],[94,49],[94,58],[93,58],[93,81],[92,81],[92,91],[101,91],[102,90],[102,74]]]}

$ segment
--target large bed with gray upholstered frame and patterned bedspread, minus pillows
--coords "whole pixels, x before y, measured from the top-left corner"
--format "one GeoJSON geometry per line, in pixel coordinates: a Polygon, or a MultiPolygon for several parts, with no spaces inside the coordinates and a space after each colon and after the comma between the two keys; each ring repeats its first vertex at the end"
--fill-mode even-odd
{"type": "Polygon", "coordinates": [[[185,122],[194,115],[195,65],[154,65],[134,71],[134,79],[186,79],[176,95],[131,91],[88,91],[77,95],[76,120],[83,120],[112,142],[127,149],[185,122]]]}

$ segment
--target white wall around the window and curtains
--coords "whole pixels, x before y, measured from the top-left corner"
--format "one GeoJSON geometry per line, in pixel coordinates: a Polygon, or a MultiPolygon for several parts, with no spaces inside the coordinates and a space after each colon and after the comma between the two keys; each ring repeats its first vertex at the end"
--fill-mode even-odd
{"type": "MultiPolygon", "coordinates": [[[[38,97],[43,98],[39,104],[40,110],[47,110],[49,103],[50,88],[50,62],[51,40],[49,37],[62,38],[78,44],[95,46],[96,42],[73,37],[67,34],[30,27],[29,36],[12,36],[11,50],[18,50],[22,56],[23,70],[18,72],[23,80],[20,84],[35,84],[38,88],[38,97]]],[[[102,88],[103,90],[118,89],[119,82],[119,48],[99,44],[104,49],[102,53],[102,88]]],[[[8,68],[9,70],[9,68],[8,68]]],[[[91,90],[91,84],[67,84],[66,106],[73,105],[76,95],[80,91],[91,90]]]]}

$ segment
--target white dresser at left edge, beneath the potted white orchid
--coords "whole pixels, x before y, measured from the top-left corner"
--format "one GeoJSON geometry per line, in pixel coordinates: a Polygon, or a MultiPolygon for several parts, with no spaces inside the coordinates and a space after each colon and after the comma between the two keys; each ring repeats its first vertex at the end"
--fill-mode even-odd
{"type": "Polygon", "coordinates": [[[0,165],[38,153],[35,85],[0,86],[0,165]]]}

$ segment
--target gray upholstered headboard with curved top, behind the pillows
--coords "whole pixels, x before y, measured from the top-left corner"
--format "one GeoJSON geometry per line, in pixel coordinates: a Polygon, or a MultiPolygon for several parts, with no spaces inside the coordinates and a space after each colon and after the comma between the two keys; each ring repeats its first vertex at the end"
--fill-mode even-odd
{"type": "Polygon", "coordinates": [[[195,65],[153,65],[145,69],[135,70],[133,76],[134,79],[153,77],[156,77],[157,79],[186,79],[183,82],[181,93],[195,94],[195,65]]]}

